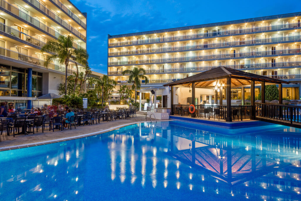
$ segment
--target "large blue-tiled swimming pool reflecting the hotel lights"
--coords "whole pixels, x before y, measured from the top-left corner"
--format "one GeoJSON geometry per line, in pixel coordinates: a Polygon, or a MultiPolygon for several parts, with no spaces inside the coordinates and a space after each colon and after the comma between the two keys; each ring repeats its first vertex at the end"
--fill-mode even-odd
{"type": "Polygon", "coordinates": [[[164,121],[0,152],[0,200],[301,200],[300,129],[164,121]]]}

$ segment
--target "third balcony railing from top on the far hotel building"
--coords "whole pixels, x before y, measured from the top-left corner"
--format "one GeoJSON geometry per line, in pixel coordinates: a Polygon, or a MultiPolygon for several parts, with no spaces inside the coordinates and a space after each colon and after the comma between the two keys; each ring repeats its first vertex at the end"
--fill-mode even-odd
{"type": "Polygon", "coordinates": [[[160,59],[143,59],[136,61],[112,61],[108,65],[133,65],[133,64],[157,64],[166,62],[191,62],[191,61],[203,61],[206,59],[234,59],[234,58],[246,58],[250,56],[268,56],[268,55],[284,55],[284,54],[299,54],[300,49],[285,49],[285,50],[269,50],[269,51],[255,51],[246,53],[229,53],[229,54],[216,54],[216,55],[200,55],[200,56],[188,56],[188,57],[170,57],[160,59]]]}

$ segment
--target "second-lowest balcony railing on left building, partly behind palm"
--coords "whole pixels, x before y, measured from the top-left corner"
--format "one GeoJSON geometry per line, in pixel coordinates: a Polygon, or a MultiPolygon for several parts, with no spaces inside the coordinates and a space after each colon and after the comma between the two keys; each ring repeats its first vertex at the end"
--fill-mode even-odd
{"type": "MultiPolygon", "coordinates": [[[[42,42],[32,36],[29,36],[23,32],[20,32],[17,29],[14,29],[12,27],[8,27],[5,24],[0,23],[0,31],[10,34],[11,36],[17,37],[21,40],[24,40],[26,42],[29,42],[35,46],[43,47],[45,45],[45,42],[42,42]]],[[[77,45],[75,42],[73,42],[74,48],[79,48],[81,46],[77,45]]]]}

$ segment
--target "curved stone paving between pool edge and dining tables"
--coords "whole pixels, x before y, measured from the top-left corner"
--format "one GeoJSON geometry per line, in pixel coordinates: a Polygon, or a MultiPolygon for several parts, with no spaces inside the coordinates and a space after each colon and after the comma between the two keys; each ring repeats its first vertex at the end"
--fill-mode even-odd
{"type": "Polygon", "coordinates": [[[27,144],[27,143],[37,143],[42,142],[45,140],[55,140],[59,138],[64,137],[73,137],[78,136],[86,133],[92,133],[92,132],[101,132],[102,130],[109,129],[111,127],[116,127],[118,125],[123,124],[131,124],[135,122],[145,121],[145,115],[139,115],[137,114],[137,117],[133,118],[127,118],[127,119],[117,119],[116,121],[101,121],[99,124],[93,124],[93,125],[85,125],[85,126],[78,126],[76,129],[74,127],[72,130],[65,129],[63,131],[61,130],[55,130],[54,132],[49,131],[49,126],[47,126],[44,130],[44,133],[42,133],[42,128],[38,130],[37,133],[33,134],[30,133],[29,135],[15,135],[13,137],[13,134],[11,133],[10,136],[6,135],[6,131],[3,131],[2,135],[0,135],[0,147],[4,146],[14,146],[14,145],[21,145],[21,144],[27,144]]]}

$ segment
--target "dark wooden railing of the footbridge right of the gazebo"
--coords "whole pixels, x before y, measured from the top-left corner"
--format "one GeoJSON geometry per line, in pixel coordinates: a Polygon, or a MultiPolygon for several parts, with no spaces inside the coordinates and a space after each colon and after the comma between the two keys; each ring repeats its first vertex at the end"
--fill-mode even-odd
{"type": "Polygon", "coordinates": [[[255,103],[255,114],[259,117],[287,121],[290,124],[301,122],[300,106],[255,103]]]}

